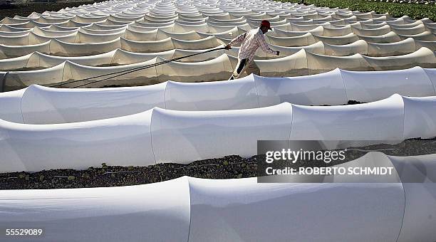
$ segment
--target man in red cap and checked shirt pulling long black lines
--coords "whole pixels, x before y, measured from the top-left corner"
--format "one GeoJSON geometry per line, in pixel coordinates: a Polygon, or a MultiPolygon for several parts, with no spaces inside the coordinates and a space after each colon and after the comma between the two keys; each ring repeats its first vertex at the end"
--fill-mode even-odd
{"type": "Polygon", "coordinates": [[[237,79],[244,71],[246,71],[247,75],[250,75],[251,73],[260,75],[259,67],[257,67],[256,63],[253,61],[254,53],[256,53],[256,50],[259,47],[266,53],[279,56],[279,51],[273,51],[269,48],[268,44],[266,44],[264,34],[269,30],[271,30],[271,24],[269,21],[262,20],[259,28],[242,33],[240,36],[237,36],[237,38],[230,41],[230,43],[225,47],[226,50],[229,50],[235,44],[242,43],[238,53],[238,65],[229,80],[237,79]]]}

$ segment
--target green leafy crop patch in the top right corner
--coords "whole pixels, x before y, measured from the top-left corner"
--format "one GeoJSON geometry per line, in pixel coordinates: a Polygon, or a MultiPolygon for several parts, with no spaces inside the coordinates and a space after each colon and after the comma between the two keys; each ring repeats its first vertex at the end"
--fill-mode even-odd
{"type": "MultiPolygon", "coordinates": [[[[277,0],[292,3],[301,3],[299,0],[277,0]]],[[[389,13],[390,16],[410,16],[412,19],[429,18],[436,21],[436,4],[400,4],[385,1],[364,1],[364,0],[305,0],[304,4],[316,6],[327,6],[330,8],[350,9],[351,11],[369,12],[377,14],[389,13]]]]}

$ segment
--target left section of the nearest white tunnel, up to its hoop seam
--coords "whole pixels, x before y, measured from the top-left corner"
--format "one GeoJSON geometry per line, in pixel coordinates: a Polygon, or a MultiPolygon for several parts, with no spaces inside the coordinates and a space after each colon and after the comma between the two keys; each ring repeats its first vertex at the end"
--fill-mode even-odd
{"type": "Polygon", "coordinates": [[[9,214],[1,216],[0,224],[44,228],[41,241],[188,239],[190,188],[185,178],[145,186],[21,192],[0,191],[1,212],[9,214]],[[13,205],[10,199],[23,203],[13,205]]]}

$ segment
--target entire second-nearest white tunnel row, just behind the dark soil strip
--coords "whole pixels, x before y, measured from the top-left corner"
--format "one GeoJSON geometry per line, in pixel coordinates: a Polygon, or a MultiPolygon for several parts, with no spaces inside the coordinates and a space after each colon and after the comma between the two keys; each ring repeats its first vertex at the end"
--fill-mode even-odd
{"type": "MultiPolygon", "coordinates": [[[[110,165],[256,154],[257,140],[405,140],[436,136],[436,98],[398,94],[358,105],[176,111],[56,125],[0,120],[0,172],[86,169],[110,165]],[[128,157],[128,159],[126,159],[128,157]]],[[[80,107],[78,107],[80,110],[80,107]]]]}

